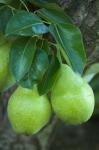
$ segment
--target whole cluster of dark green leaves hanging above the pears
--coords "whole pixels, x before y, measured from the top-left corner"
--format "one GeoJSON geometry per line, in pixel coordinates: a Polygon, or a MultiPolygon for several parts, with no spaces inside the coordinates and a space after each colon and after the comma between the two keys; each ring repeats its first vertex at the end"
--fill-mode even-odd
{"type": "Polygon", "coordinates": [[[37,84],[41,94],[47,93],[63,58],[75,72],[84,70],[81,32],[56,1],[0,1],[0,32],[13,41],[9,62],[16,84],[37,84]]]}

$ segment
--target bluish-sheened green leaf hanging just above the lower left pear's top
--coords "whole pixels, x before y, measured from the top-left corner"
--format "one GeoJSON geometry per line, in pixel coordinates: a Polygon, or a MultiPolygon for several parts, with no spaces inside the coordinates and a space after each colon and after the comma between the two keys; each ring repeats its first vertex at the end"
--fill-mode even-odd
{"type": "Polygon", "coordinates": [[[28,74],[22,80],[21,85],[26,88],[32,88],[34,84],[41,81],[49,65],[47,52],[39,49],[34,57],[33,63],[28,74]]]}

